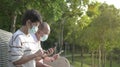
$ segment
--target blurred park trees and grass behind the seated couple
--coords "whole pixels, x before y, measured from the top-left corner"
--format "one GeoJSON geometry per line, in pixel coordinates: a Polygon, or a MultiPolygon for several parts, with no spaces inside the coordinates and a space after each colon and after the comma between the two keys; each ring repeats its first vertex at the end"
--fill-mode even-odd
{"type": "Polygon", "coordinates": [[[120,67],[119,8],[97,0],[0,0],[0,29],[14,33],[27,9],[50,24],[44,49],[56,45],[73,67],[120,67]]]}

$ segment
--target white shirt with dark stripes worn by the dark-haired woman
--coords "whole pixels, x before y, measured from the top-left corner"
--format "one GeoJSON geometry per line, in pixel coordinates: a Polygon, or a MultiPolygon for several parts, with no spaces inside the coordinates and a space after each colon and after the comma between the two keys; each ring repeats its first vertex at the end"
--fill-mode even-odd
{"type": "MultiPolygon", "coordinates": [[[[34,54],[37,51],[36,43],[30,34],[25,35],[22,31],[17,30],[9,42],[9,67],[15,67],[12,62],[21,59],[22,56],[34,54]]],[[[36,67],[35,60],[22,64],[22,67],[36,67]]]]}

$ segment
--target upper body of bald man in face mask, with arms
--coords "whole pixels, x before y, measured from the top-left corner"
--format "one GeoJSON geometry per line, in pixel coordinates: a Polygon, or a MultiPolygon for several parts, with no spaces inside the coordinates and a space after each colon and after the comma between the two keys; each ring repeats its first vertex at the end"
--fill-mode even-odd
{"type": "Polygon", "coordinates": [[[58,58],[58,54],[53,55],[53,57],[49,57],[51,54],[53,54],[55,48],[50,48],[47,51],[44,51],[40,45],[41,41],[47,40],[48,36],[50,34],[50,26],[46,23],[43,22],[41,25],[38,27],[38,31],[35,34],[31,34],[36,42],[36,50],[41,50],[43,51],[44,55],[42,57],[37,57],[36,58],[36,66],[37,67],[51,67],[47,64],[44,63],[44,61],[54,61],[58,58]]]}

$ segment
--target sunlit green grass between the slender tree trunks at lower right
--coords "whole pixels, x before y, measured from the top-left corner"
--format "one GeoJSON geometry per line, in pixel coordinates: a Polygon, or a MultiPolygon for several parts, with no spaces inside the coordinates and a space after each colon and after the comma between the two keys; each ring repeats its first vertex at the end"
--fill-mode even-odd
{"type": "MultiPolygon", "coordinates": [[[[70,61],[71,65],[73,67],[81,67],[81,58],[80,57],[75,57],[74,63],[72,63],[71,57],[69,57],[68,60],[70,61]]],[[[91,67],[91,58],[90,57],[84,57],[83,63],[84,63],[83,67],[91,67]]],[[[95,66],[98,67],[97,66],[97,64],[98,64],[97,59],[95,59],[95,64],[96,64],[95,66]]],[[[110,67],[110,62],[108,60],[106,61],[106,66],[105,67],[110,67]]],[[[113,61],[112,67],[120,67],[120,64],[113,61]]]]}

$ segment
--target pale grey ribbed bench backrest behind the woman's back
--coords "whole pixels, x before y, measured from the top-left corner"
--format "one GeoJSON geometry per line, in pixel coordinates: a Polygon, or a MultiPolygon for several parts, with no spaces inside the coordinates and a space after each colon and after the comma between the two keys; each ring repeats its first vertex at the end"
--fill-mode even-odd
{"type": "Polygon", "coordinates": [[[8,42],[12,33],[0,29],[0,67],[8,67],[8,42]]]}

